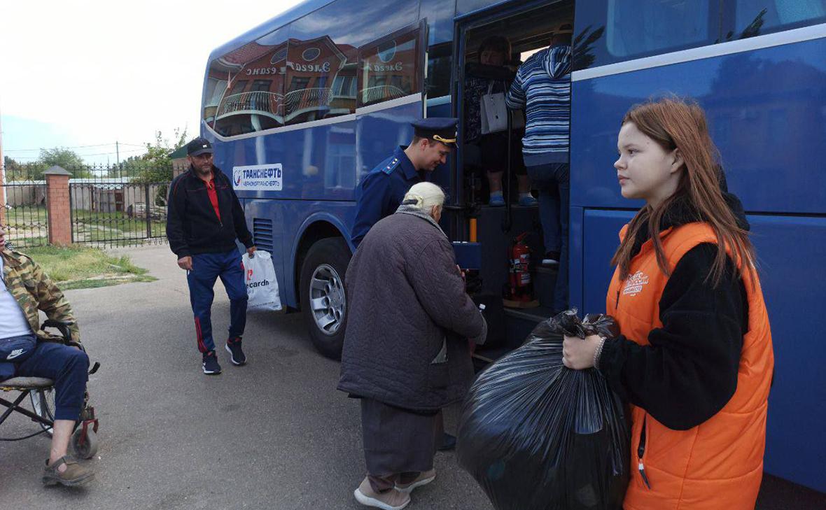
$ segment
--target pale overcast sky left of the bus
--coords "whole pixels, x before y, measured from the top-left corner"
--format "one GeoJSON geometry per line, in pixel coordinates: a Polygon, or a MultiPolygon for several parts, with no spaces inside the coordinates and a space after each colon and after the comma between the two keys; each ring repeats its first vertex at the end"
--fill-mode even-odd
{"type": "Polygon", "coordinates": [[[89,163],[142,153],[154,131],[199,130],[207,57],[300,0],[0,0],[3,154],[74,149],[89,163]],[[108,144],[108,145],[104,145],[108,144]]]}

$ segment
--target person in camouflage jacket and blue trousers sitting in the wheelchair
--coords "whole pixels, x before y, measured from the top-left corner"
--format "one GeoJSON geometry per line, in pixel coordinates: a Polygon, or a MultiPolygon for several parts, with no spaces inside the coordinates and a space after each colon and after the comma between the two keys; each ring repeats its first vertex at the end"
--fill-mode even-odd
{"type": "Polygon", "coordinates": [[[15,376],[55,381],[55,423],[43,483],[84,484],[93,479],[93,471],[67,451],[86,396],[89,358],[78,347],[45,333],[38,316],[41,309],[49,319],[71,323],[71,338],[78,342],[69,301],[40,265],[6,245],[2,225],[0,275],[0,381],[15,376]]]}

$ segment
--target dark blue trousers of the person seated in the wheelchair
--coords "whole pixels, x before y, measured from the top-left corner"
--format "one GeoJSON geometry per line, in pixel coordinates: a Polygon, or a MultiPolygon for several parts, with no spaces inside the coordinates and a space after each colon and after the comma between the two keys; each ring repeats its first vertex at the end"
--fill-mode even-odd
{"type": "Polygon", "coordinates": [[[77,347],[38,342],[31,356],[17,364],[14,375],[54,380],[55,419],[76,422],[86,396],[88,371],[89,357],[77,347]]]}

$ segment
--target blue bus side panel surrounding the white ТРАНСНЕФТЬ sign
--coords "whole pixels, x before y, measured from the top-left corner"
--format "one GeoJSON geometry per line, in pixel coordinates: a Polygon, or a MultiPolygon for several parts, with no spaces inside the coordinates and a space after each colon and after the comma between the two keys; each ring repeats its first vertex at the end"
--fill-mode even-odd
{"type": "Polygon", "coordinates": [[[215,146],[215,163],[230,178],[234,167],[282,166],[282,190],[239,190],[240,198],[353,200],[355,120],[316,125],[300,130],[221,142],[207,132],[215,146]]]}

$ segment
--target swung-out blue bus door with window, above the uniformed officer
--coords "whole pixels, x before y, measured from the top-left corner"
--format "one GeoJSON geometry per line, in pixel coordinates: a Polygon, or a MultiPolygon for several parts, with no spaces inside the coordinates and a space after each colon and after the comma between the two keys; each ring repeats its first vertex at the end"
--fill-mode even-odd
{"type": "Polygon", "coordinates": [[[358,48],[358,180],[413,137],[425,116],[427,24],[420,21],[358,48]]]}

